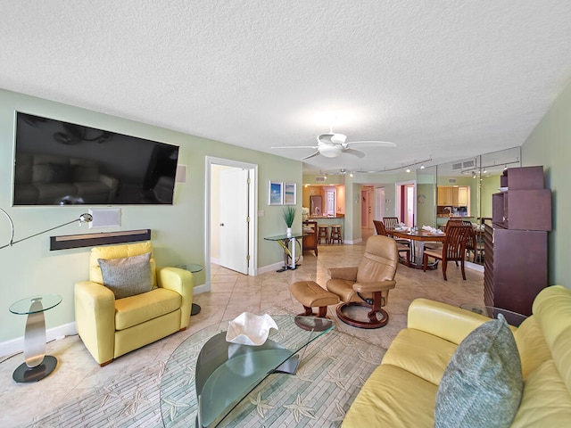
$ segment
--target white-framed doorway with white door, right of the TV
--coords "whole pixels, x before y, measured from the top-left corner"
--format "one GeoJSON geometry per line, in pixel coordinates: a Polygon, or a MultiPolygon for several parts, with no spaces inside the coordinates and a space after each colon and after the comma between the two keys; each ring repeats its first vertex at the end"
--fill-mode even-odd
{"type": "MultiPolygon", "coordinates": [[[[236,249],[232,250],[231,258],[246,260],[247,265],[244,273],[250,276],[257,275],[258,223],[256,214],[258,212],[258,165],[206,156],[205,184],[204,273],[208,282],[208,289],[210,290],[211,262],[219,263],[220,258],[225,258],[228,254],[225,255],[224,251],[220,251],[220,244],[222,243],[226,247],[227,244],[225,242],[228,242],[228,239],[234,239],[229,238],[228,234],[226,234],[227,232],[231,234],[228,231],[230,227],[227,227],[227,222],[229,221],[228,226],[233,225],[235,220],[236,224],[241,224],[240,220],[244,218],[244,214],[247,222],[247,233],[240,235],[241,237],[237,239],[245,241],[245,244],[242,242],[238,243],[236,249]],[[226,170],[228,172],[220,173],[220,171],[226,170]],[[244,176],[247,176],[246,187],[242,187],[240,192],[230,190],[231,187],[228,187],[229,180],[227,178],[244,176]],[[226,182],[226,185],[222,184],[222,187],[220,187],[221,181],[226,182]],[[222,201],[222,206],[220,206],[220,201],[222,201]],[[233,207],[234,205],[242,207],[240,214],[237,213],[236,209],[232,209],[235,215],[223,219],[225,216],[223,210],[228,211],[228,207],[233,207]],[[222,228],[220,223],[224,223],[225,226],[223,227],[226,227],[224,231],[220,230],[222,228]],[[224,232],[224,234],[220,232],[224,232]],[[215,256],[213,256],[213,253],[215,256]]],[[[241,231],[238,231],[238,233],[244,233],[244,229],[241,226],[236,226],[236,228],[241,231]]],[[[243,268],[240,269],[243,270],[243,268]]],[[[241,271],[238,268],[235,270],[241,271]]]]}

